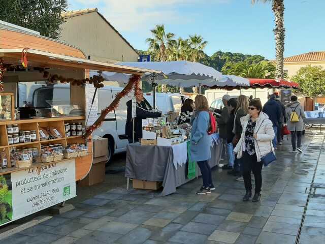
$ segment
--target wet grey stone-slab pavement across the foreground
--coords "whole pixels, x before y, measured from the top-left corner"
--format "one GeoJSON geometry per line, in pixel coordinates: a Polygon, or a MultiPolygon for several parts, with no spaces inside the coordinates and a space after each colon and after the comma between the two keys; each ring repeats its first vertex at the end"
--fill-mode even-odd
{"type": "Polygon", "coordinates": [[[2,241],[11,244],[291,244],[298,239],[301,244],[325,243],[322,143],[323,135],[306,134],[303,154],[291,153],[289,141],[278,146],[278,160],[263,168],[262,197],[257,203],[243,202],[244,183],[218,168],[213,170],[216,190],[210,195],[195,194],[202,185],[201,178],[165,197],[155,191],[127,191],[123,186],[80,202],[75,210],[2,241]]]}

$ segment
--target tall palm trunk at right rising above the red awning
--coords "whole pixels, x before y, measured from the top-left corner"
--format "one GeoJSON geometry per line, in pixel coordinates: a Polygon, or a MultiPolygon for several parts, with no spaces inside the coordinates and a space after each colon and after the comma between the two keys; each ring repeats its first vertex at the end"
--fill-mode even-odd
{"type": "Polygon", "coordinates": [[[276,79],[280,80],[284,78],[283,72],[283,52],[284,52],[284,0],[251,0],[252,4],[255,4],[258,1],[264,3],[272,1],[272,11],[275,17],[275,50],[276,50],[276,79]]]}

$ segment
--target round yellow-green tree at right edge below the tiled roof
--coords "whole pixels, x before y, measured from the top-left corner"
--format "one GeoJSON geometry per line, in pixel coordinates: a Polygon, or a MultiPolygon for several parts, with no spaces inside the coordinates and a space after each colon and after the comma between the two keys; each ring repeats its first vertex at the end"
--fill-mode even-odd
{"type": "Polygon", "coordinates": [[[325,95],[325,70],[321,66],[300,68],[291,81],[299,84],[299,89],[307,97],[325,95]]]}

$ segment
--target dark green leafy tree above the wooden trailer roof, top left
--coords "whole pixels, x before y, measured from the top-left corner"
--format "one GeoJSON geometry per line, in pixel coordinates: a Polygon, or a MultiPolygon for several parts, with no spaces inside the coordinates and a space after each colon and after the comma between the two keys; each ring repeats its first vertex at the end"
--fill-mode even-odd
{"type": "Polygon", "coordinates": [[[58,39],[67,8],[67,0],[0,0],[0,20],[58,39]]]}

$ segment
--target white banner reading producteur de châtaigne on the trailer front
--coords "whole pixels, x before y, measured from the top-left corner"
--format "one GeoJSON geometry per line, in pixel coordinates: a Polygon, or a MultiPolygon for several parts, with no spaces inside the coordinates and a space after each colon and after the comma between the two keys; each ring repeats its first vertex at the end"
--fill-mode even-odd
{"type": "Polygon", "coordinates": [[[76,196],[75,160],[0,175],[0,226],[76,196]]]}

